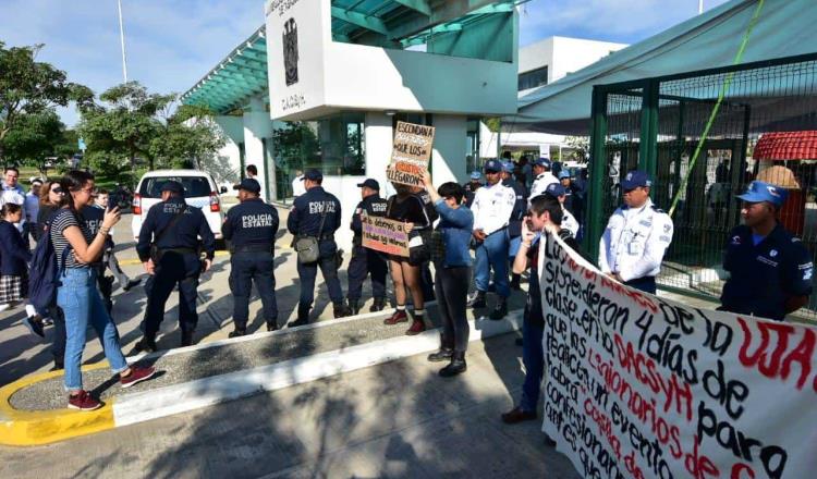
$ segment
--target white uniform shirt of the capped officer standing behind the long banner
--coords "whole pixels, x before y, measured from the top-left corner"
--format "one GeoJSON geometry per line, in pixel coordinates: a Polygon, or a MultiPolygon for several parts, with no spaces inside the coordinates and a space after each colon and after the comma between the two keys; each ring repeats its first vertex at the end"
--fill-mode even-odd
{"type": "Polygon", "coordinates": [[[599,269],[618,273],[622,281],[655,277],[671,242],[672,219],[651,200],[637,209],[621,207],[599,242],[599,269]]]}

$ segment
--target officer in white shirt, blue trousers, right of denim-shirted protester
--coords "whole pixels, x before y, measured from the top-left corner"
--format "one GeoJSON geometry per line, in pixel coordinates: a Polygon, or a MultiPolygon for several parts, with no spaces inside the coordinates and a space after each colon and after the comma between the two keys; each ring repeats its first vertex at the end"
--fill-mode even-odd
{"type": "Polygon", "coordinates": [[[508,222],[513,212],[516,194],[513,188],[501,182],[502,163],[489,160],[485,163],[486,184],[476,191],[471,210],[474,213],[473,241],[476,244],[474,263],[474,282],[476,293],[468,305],[472,308],[485,308],[485,293],[490,283],[493,269],[493,284],[499,295],[490,318],[498,320],[508,315],[508,296],[511,287],[508,283],[508,222]]]}

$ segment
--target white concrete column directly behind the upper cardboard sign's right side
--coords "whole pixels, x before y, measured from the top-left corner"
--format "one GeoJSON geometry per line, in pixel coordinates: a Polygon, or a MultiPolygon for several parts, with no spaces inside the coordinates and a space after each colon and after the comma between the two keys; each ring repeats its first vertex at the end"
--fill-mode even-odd
{"type": "Polygon", "coordinates": [[[465,163],[467,118],[435,114],[434,126],[434,152],[431,153],[434,184],[439,186],[446,182],[465,183],[468,173],[465,163]]]}

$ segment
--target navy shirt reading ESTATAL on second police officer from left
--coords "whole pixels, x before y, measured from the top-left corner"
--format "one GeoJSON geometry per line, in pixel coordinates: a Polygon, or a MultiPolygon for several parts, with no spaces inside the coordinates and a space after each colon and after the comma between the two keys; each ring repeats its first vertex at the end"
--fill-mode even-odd
{"type": "Polygon", "coordinates": [[[260,198],[252,198],[230,208],[221,233],[235,250],[248,248],[272,253],[278,223],[276,207],[260,198]]]}

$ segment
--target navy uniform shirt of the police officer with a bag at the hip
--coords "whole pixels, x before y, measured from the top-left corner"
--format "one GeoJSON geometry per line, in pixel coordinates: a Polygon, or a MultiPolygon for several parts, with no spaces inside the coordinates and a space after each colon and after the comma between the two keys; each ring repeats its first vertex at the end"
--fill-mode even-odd
{"type": "Polygon", "coordinates": [[[317,236],[325,209],[326,219],[320,235],[326,237],[333,234],[341,224],[340,201],[322,186],[314,186],[295,198],[286,219],[286,229],[293,235],[317,236]]]}

